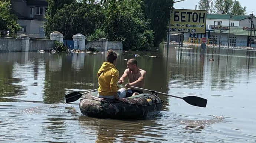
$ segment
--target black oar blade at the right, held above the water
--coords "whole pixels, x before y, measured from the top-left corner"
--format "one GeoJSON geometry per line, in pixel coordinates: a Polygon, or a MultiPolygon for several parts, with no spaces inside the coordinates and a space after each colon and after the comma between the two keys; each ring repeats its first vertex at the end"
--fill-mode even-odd
{"type": "Polygon", "coordinates": [[[198,106],[198,107],[206,107],[207,99],[197,97],[197,96],[187,96],[182,98],[190,105],[198,106]]]}

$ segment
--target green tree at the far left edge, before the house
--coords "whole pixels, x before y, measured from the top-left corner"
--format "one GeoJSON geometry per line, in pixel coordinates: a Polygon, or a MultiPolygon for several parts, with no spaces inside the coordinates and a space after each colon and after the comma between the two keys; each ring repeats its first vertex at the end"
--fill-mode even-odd
{"type": "Polygon", "coordinates": [[[0,31],[9,30],[14,34],[21,29],[17,23],[17,16],[11,12],[10,0],[1,0],[0,2],[0,31]]]}

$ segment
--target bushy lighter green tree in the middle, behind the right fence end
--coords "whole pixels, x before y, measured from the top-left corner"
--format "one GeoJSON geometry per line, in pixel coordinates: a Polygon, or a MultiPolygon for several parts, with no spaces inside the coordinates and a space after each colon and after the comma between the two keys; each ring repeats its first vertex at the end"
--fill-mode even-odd
{"type": "Polygon", "coordinates": [[[102,4],[108,40],[122,41],[124,50],[148,50],[153,46],[154,32],[145,20],[141,0],[105,0],[102,4]]]}

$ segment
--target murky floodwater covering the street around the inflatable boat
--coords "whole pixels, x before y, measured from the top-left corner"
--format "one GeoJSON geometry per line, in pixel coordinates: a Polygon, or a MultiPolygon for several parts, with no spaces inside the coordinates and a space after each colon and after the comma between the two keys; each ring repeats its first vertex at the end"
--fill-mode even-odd
{"type": "Polygon", "coordinates": [[[118,51],[116,67],[122,74],[124,59],[139,54],[145,89],[206,98],[207,107],[159,95],[161,113],[145,120],[90,118],[79,101],[65,103],[70,92],[98,88],[105,53],[0,53],[0,142],[256,142],[256,52],[174,47],[168,58],[164,47],[118,51]]]}

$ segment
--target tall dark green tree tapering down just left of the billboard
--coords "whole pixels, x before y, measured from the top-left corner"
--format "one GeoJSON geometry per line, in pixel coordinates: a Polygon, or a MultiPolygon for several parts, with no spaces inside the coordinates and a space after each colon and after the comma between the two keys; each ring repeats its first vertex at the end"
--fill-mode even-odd
{"type": "Polygon", "coordinates": [[[150,28],[154,31],[154,45],[158,46],[166,37],[170,10],[173,0],[142,0],[142,10],[145,19],[149,20],[150,28]]]}

